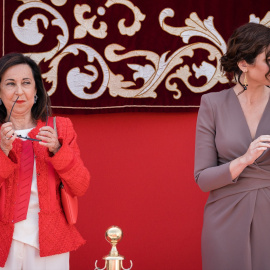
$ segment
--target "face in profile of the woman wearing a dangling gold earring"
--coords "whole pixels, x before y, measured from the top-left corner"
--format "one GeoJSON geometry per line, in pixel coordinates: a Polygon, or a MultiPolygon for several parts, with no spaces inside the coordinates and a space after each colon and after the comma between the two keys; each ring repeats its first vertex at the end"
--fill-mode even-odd
{"type": "Polygon", "coordinates": [[[266,59],[266,53],[263,51],[256,58],[252,65],[248,66],[247,80],[248,84],[254,85],[269,85],[270,75],[265,78],[265,74],[269,71],[267,62],[270,63],[270,58],[266,59]]]}

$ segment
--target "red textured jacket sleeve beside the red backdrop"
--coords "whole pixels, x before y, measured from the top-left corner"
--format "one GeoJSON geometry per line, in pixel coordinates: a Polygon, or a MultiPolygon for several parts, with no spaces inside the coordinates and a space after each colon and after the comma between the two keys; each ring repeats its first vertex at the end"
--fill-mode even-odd
{"type": "Polygon", "coordinates": [[[71,192],[82,196],[89,186],[90,174],[80,157],[77,134],[68,118],[57,117],[56,126],[61,148],[48,159],[71,192]]]}

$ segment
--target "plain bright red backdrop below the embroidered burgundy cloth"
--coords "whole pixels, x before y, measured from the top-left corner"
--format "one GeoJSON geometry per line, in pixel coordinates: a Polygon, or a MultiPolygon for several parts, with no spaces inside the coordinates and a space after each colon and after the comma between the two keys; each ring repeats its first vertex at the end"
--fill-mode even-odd
{"type": "Polygon", "coordinates": [[[79,199],[77,227],[87,244],[71,270],[94,270],[110,250],[105,231],[123,230],[118,251],[134,270],[201,269],[207,194],[193,179],[197,113],[69,116],[91,185],[79,199]]]}

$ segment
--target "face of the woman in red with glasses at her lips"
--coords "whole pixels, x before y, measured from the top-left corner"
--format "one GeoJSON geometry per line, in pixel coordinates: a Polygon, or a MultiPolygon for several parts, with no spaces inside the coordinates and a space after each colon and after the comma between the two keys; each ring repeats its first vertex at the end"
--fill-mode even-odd
{"type": "Polygon", "coordinates": [[[8,68],[0,83],[0,98],[6,109],[7,116],[19,96],[12,111],[12,117],[30,114],[36,95],[36,84],[31,68],[27,64],[19,64],[8,68]]]}

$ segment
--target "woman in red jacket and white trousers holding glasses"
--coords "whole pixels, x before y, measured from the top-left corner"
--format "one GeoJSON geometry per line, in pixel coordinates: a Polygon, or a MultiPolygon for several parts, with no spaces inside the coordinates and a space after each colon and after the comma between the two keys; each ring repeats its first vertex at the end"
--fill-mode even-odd
{"type": "Polygon", "coordinates": [[[0,59],[0,267],[69,269],[69,252],[85,241],[63,213],[61,181],[76,196],[89,172],[68,118],[52,122],[37,64],[12,53],[0,59]],[[49,119],[49,120],[48,120],[49,119]],[[50,172],[53,171],[53,174],[50,172]]]}

